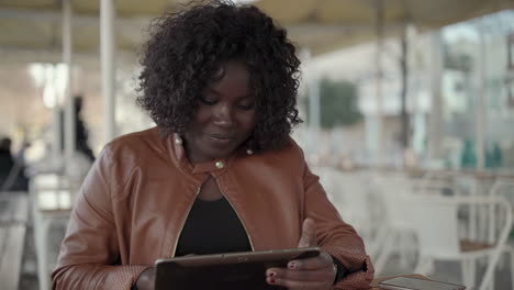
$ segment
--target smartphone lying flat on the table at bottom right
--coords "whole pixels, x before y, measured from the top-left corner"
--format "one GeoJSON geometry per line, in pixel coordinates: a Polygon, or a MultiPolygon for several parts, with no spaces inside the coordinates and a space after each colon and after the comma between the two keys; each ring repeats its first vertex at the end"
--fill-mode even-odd
{"type": "Polygon", "coordinates": [[[389,290],[465,290],[461,285],[424,280],[411,277],[396,277],[379,282],[381,289],[389,290]]]}

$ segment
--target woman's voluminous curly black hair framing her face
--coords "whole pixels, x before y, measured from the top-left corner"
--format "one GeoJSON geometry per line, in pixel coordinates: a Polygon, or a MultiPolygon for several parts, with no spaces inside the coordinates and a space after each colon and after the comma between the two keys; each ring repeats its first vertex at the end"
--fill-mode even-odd
{"type": "Polygon", "coordinates": [[[165,133],[188,130],[200,93],[226,60],[243,62],[256,96],[256,126],[247,146],[286,145],[298,115],[300,60],[284,29],[253,5],[190,3],[150,24],[143,47],[137,103],[165,133]]]}

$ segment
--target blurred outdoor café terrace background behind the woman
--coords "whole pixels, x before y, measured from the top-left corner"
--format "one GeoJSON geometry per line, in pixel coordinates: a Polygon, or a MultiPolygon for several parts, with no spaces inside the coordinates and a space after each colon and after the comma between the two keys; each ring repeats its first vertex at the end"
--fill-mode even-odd
{"type": "MultiPolygon", "coordinates": [[[[74,193],[181,0],[0,1],[0,281],[48,289],[74,193]]],[[[302,59],[293,137],[377,276],[514,289],[514,1],[245,0],[302,59]]]]}

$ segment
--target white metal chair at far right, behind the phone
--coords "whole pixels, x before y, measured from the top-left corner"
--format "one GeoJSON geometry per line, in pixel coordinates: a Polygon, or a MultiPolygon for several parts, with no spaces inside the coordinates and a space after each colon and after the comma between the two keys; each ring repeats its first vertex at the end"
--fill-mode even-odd
{"type": "MultiPolygon", "coordinates": [[[[427,275],[434,260],[460,260],[462,280],[474,289],[474,263],[487,258],[487,270],[480,290],[494,288],[494,270],[512,227],[512,211],[504,199],[491,197],[417,196],[407,200],[410,220],[420,242],[420,259],[415,272],[427,275]],[[503,221],[500,231],[490,227],[493,241],[470,241],[459,235],[459,210],[465,207],[494,209],[488,219],[503,221]]],[[[472,216],[470,216],[472,219],[472,216]]]]}

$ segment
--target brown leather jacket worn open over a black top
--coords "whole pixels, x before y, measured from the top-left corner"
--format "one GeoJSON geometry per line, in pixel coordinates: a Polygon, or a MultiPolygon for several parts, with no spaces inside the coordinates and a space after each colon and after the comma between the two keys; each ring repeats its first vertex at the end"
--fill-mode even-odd
{"type": "Polygon", "coordinates": [[[156,259],[174,256],[209,175],[254,250],[297,247],[302,222],[311,216],[319,245],[351,271],[335,289],[369,286],[373,268],[361,238],[340,220],[292,140],[281,150],[242,150],[222,161],[222,168],[215,161],[191,165],[182,146],[157,129],[108,144],[78,194],[52,275],[54,289],[130,289],[156,259]]]}

